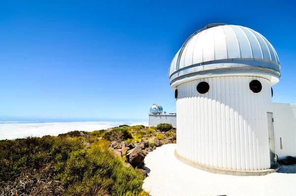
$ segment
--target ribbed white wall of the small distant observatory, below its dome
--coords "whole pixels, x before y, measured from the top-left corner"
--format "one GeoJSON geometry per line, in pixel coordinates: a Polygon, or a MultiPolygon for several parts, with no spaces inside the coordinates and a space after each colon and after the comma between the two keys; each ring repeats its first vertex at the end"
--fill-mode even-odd
{"type": "Polygon", "coordinates": [[[157,126],[160,123],[170,123],[173,127],[176,127],[176,115],[149,114],[149,126],[157,126]]]}

